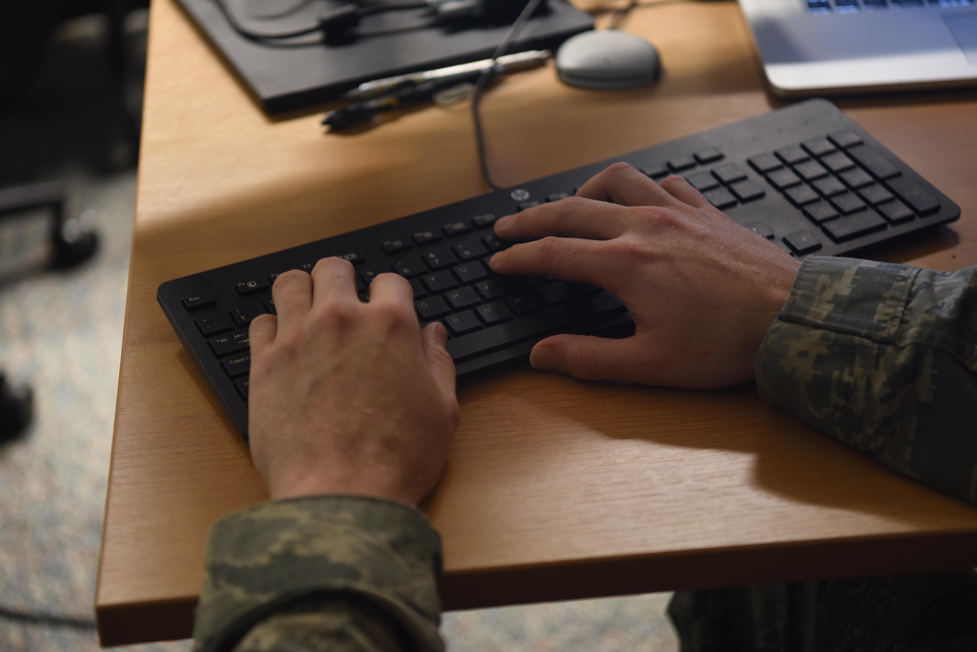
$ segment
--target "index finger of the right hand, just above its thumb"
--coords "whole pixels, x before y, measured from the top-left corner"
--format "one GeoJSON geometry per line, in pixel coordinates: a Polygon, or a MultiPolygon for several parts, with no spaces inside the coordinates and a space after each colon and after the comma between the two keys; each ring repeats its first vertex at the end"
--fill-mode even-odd
{"type": "Polygon", "coordinates": [[[608,268],[603,240],[547,236],[500,251],[488,260],[499,274],[555,276],[603,285],[608,268]]]}

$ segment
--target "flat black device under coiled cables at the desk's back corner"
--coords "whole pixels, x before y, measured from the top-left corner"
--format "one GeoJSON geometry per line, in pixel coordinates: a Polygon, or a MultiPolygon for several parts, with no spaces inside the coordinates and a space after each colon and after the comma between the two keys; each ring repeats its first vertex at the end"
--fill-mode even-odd
{"type": "MultiPolygon", "coordinates": [[[[327,102],[344,91],[380,77],[488,59],[511,23],[511,12],[499,20],[446,23],[431,11],[409,9],[358,18],[347,38],[328,41],[317,28],[330,10],[348,3],[332,0],[178,0],[207,34],[268,113],[327,102]],[[259,15],[268,9],[268,14],[259,15]],[[248,10],[251,10],[250,15],[248,10]],[[234,23],[225,10],[234,12],[234,23]],[[291,10],[291,11],[289,11],[291,10]],[[291,39],[261,39],[246,33],[308,34],[291,39]]],[[[384,0],[391,3],[405,0],[384,0]]],[[[504,4],[503,0],[495,0],[504,4]]],[[[375,3],[374,3],[375,4],[375,3]]],[[[512,3],[509,3],[512,4],[512,3]]],[[[521,9],[525,3],[516,3],[521,9]]],[[[363,4],[363,8],[370,7],[363,4]]],[[[515,12],[518,14],[518,11],[515,12]]],[[[521,31],[512,51],[555,49],[582,31],[593,29],[589,14],[566,0],[547,0],[521,31]]],[[[342,30],[346,31],[346,30],[342,30]]]]}

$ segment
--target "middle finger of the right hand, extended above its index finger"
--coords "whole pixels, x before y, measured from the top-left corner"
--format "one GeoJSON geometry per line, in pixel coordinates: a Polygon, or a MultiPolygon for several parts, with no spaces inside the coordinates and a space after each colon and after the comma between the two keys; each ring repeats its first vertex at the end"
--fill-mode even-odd
{"type": "Polygon", "coordinates": [[[610,240],[624,232],[628,215],[606,201],[567,197],[540,204],[495,223],[503,240],[528,240],[545,235],[610,240]]]}

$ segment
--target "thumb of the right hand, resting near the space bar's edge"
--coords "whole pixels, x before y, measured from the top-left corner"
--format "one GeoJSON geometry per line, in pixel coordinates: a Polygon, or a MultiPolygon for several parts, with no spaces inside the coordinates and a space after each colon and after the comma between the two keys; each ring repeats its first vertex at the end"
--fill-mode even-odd
{"type": "Polygon", "coordinates": [[[631,381],[637,376],[633,338],[612,340],[592,335],[554,335],[532,347],[535,369],[570,374],[581,381],[631,381]]]}

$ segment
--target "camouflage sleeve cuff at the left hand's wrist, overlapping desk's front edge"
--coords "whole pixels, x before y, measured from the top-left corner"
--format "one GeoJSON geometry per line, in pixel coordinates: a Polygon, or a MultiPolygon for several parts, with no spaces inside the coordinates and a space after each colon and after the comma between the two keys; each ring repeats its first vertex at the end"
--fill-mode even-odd
{"type": "Polygon", "coordinates": [[[193,652],[442,652],[440,573],[440,536],[398,503],[242,509],[208,535],[193,652]]]}

